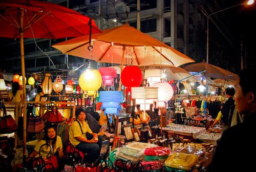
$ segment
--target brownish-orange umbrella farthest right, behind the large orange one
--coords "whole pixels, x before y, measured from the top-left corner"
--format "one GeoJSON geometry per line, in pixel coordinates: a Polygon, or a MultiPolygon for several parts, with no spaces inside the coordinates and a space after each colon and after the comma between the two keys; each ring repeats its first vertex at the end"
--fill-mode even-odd
{"type": "Polygon", "coordinates": [[[200,62],[200,63],[194,63],[191,65],[187,65],[185,67],[183,67],[183,69],[185,69],[186,71],[189,72],[201,72],[204,71],[204,75],[207,77],[212,77],[212,78],[216,78],[216,79],[225,79],[225,80],[236,80],[237,75],[229,72],[225,69],[222,69],[220,67],[214,66],[214,65],[210,65],[209,63],[206,62],[200,62]]]}

